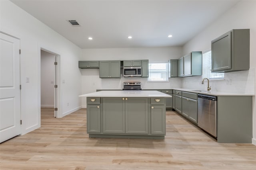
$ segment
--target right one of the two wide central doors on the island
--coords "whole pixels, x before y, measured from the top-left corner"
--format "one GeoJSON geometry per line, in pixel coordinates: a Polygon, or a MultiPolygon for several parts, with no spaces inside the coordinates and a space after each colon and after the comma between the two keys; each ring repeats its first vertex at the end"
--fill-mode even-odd
{"type": "Polygon", "coordinates": [[[125,101],[126,133],[148,134],[148,98],[125,101]]]}

